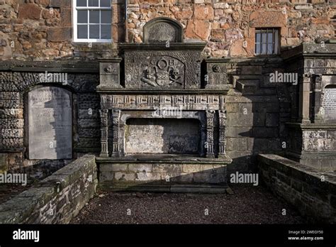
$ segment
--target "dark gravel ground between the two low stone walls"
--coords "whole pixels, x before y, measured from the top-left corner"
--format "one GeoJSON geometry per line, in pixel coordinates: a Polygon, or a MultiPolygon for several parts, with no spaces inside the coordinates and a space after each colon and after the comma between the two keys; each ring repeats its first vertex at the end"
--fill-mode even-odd
{"type": "Polygon", "coordinates": [[[230,187],[235,194],[98,192],[72,224],[305,223],[296,209],[264,187],[230,187]]]}

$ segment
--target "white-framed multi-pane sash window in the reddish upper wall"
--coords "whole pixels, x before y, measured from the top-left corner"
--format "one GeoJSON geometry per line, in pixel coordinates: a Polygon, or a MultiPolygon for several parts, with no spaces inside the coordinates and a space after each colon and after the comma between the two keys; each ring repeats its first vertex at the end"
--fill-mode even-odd
{"type": "MultiPolygon", "coordinates": [[[[89,0],[86,0],[86,7],[77,7],[77,0],[72,0],[72,29],[73,29],[73,37],[74,42],[83,42],[83,43],[111,43],[112,39],[112,31],[111,31],[111,39],[99,39],[99,38],[77,38],[77,11],[78,10],[111,10],[111,14],[113,14],[112,6],[110,7],[100,7],[101,1],[99,1],[99,6],[89,6],[89,0]]],[[[111,19],[111,28],[112,28],[112,19],[111,19]]],[[[99,33],[101,28],[101,15],[99,12],[99,33]]],[[[88,35],[89,33],[89,14],[88,14],[88,35]]]]}

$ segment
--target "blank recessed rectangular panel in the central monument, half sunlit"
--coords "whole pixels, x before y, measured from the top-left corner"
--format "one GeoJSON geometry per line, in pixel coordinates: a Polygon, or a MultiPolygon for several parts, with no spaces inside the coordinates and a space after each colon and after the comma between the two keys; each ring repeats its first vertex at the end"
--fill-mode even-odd
{"type": "Polygon", "coordinates": [[[126,153],[198,153],[196,119],[129,119],[126,153]]]}

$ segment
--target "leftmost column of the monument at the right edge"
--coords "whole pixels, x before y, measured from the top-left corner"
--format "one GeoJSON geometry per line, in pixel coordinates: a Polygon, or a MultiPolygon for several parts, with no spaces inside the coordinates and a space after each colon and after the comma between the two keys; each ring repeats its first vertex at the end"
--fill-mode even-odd
{"type": "Polygon", "coordinates": [[[298,97],[299,99],[298,120],[302,124],[310,124],[310,119],[309,119],[310,80],[311,80],[311,75],[309,73],[305,73],[300,83],[300,90],[299,90],[299,97],[298,97]]]}

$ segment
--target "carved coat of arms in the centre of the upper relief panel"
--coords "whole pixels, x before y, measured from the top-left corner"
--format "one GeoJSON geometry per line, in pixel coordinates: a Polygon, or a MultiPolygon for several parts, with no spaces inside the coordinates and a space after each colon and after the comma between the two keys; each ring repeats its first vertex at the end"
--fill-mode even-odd
{"type": "Polygon", "coordinates": [[[141,81],[152,87],[183,87],[184,64],[174,57],[149,57],[141,66],[141,81]]]}

